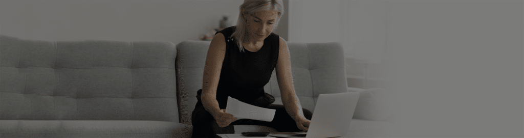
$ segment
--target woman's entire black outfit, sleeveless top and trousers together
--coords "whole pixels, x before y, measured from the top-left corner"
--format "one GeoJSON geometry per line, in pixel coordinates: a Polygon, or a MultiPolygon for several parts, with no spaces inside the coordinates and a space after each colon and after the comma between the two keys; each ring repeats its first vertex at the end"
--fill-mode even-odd
{"type": "MultiPolygon", "coordinates": [[[[226,42],[226,53],[216,90],[216,100],[219,102],[220,109],[226,108],[228,96],[244,103],[256,105],[254,102],[264,95],[264,86],[269,82],[271,73],[275,69],[278,60],[280,37],[277,34],[271,33],[266,37],[264,45],[258,51],[250,52],[244,49],[244,52],[241,52],[235,39],[231,36],[235,29],[236,27],[233,26],[216,32],[222,33],[226,42]]],[[[200,101],[201,91],[197,92],[198,102],[191,116],[193,137],[212,137],[215,135],[215,132],[212,131],[211,124],[216,124],[216,121],[204,109],[200,101]]],[[[241,119],[231,123],[228,127],[215,128],[215,130],[221,129],[225,131],[223,133],[234,133],[233,125],[235,124],[256,124],[272,127],[280,132],[300,131],[282,105],[267,105],[264,107],[277,109],[273,121],[241,119]]],[[[311,112],[307,109],[303,110],[304,116],[311,119],[311,112]]]]}

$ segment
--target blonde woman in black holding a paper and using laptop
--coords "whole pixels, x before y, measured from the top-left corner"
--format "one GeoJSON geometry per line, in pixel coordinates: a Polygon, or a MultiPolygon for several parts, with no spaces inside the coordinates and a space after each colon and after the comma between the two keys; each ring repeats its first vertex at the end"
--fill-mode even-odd
{"type": "Polygon", "coordinates": [[[237,26],[217,32],[211,41],[203,86],[191,116],[193,137],[234,133],[236,124],[268,126],[279,132],[308,131],[312,114],[302,109],[295,94],[287,44],[272,33],[283,14],[282,1],[245,0],[240,11],[237,26]],[[264,92],[274,69],[283,106],[268,104],[272,96],[264,92]],[[271,122],[237,120],[226,113],[228,96],[276,109],[275,117],[271,122]],[[213,124],[220,127],[215,128],[219,132],[213,132],[213,124]]]}

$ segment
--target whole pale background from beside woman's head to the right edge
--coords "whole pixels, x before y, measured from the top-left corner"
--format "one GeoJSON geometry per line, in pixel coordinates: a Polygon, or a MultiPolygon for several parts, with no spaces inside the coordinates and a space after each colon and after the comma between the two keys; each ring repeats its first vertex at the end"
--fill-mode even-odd
{"type": "MultiPolygon", "coordinates": [[[[392,78],[392,137],[524,136],[524,1],[346,2],[290,1],[289,40],[384,42],[386,61],[369,73],[392,78]],[[386,12],[367,10],[373,3],[386,12]],[[344,10],[355,18],[340,27],[344,10]],[[337,40],[345,27],[356,36],[337,40]]],[[[346,62],[348,75],[363,75],[346,62]]]]}

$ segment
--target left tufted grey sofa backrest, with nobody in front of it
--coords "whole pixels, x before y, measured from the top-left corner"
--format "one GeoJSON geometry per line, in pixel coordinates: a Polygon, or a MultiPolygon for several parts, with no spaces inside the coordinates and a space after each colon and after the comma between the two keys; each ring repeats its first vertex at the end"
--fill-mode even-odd
{"type": "Polygon", "coordinates": [[[171,42],[0,36],[0,120],[179,122],[171,42]]]}

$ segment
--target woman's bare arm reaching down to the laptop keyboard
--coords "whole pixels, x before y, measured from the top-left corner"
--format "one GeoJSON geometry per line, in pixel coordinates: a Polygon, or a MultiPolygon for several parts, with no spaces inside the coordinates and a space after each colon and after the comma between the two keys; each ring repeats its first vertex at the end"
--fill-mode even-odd
{"type": "Polygon", "coordinates": [[[291,118],[299,122],[299,120],[303,120],[305,117],[302,112],[300,101],[294,91],[288,45],[286,41],[282,39],[282,37],[280,37],[278,53],[276,75],[278,86],[280,88],[280,95],[282,96],[282,104],[286,108],[286,111],[291,116],[291,118]]]}

